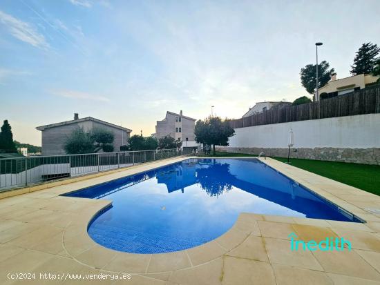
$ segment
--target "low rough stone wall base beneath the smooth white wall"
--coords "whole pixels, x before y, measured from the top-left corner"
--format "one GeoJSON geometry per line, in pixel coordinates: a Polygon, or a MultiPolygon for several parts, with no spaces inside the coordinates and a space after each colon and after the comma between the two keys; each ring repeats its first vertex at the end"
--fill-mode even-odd
{"type": "MultiPolygon", "coordinates": [[[[218,147],[217,149],[251,155],[263,152],[268,157],[287,157],[288,151],[287,148],[218,147]]],[[[290,157],[380,165],[380,148],[291,148],[290,157]]]]}

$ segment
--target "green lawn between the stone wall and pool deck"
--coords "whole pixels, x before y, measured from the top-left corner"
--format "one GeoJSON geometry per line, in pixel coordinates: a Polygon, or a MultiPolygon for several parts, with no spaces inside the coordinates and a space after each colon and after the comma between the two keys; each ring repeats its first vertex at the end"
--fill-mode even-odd
{"type": "MultiPolygon", "coordinates": [[[[203,157],[254,157],[244,153],[216,152],[216,155],[202,155],[203,157]]],[[[272,157],[286,162],[283,157],[272,157]]],[[[310,159],[290,159],[290,164],[305,169],[311,173],[334,179],[356,188],[380,195],[380,166],[367,164],[346,164],[344,162],[320,161],[310,159]]]]}

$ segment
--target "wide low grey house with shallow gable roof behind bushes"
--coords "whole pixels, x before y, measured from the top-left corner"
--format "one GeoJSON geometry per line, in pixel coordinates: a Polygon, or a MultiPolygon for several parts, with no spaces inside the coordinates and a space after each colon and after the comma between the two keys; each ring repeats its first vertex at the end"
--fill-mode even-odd
{"type": "Polygon", "coordinates": [[[79,119],[79,115],[75,113],[73,120],[37,127],[37,130],[41,130],[42,134],[42,155],[64,155],[64,143],[76,128],[83,128],[86,132],[93,128],[111,130],[115,136],[114,151],[120,151],[120,146],[127,144],[132,132],[129,128],[123,128],[93,117],[79,119]]]}

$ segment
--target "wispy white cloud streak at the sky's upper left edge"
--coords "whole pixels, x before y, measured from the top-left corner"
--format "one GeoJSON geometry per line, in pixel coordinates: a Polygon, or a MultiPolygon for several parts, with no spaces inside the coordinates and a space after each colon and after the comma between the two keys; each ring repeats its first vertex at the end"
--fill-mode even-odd
{"type": "Polygon", "coordinates": [[[10,14],[0,10],[0,22],[8,27],[10,34],[20,41],[30,43],[37,48],[48,48],[49,45],[44,35],[41,35],[37,29],[30,23],[23,22],[10,14]]]}

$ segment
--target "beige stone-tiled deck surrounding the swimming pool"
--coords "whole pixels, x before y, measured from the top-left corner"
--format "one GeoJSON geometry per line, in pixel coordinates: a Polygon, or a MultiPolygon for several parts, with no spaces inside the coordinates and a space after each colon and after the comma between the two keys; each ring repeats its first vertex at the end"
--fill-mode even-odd
{"type": "Polygon", "coordinates": [[[88,222],[111,201],[59,196],[183,159],[187,157],[0,199],[0,284],[380,284],[380,197],[274,159],[260,158],[367,223],[242,213],[227,233],[207,244],[140,255],[104,248],[88,236],[88,222]],[[292,251],[290,233],[306,242],[343,237],[352,250],[292,251]],[[8,273],[28,272],[126,273],[131,279],[7,278],[8,273]]]}

